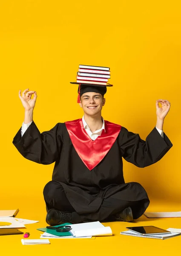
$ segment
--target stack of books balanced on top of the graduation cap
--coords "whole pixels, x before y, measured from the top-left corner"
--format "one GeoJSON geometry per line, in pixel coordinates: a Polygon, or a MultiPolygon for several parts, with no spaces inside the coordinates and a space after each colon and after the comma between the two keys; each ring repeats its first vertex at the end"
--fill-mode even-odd
{"type": "Polygon", "coordinates": [[[106,85],[110,78],[109,67],[79,65],[77,83],[106,85]]]}

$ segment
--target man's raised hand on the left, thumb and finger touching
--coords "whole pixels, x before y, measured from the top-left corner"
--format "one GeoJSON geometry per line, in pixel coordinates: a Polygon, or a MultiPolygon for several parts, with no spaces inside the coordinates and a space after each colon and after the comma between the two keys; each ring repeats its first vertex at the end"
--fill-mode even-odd
{"type": "Polygon", "coordinates": [[[21,90],[19,90],[19,97],[23,107],[25,108],[25,111],[33,111],[37,99],[37,93],[35,91],[29,91],[29,89],[26,89],[23,91],[21,96],[21,90]],[[31,99],[33,94],[34,97],[31,99]]]}

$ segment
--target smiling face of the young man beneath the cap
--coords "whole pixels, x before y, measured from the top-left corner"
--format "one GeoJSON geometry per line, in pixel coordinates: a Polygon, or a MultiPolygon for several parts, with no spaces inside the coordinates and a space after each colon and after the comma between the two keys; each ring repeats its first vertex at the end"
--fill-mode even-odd
{"type": "Polygon", "coordinates": [[[83,95],[81,96],[81,102],[79,104],[80,107],[83,108],[84,113],[86,113],[87,115],[101,115],[101,110],[105,104],[105,99],[103,99],[101,93],[83,93],[83,95]]]}

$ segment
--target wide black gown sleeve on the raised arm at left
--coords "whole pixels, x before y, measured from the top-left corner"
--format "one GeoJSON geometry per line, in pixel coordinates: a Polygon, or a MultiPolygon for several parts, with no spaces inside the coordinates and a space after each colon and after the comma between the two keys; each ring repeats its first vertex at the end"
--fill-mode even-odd
{"type": "Polygon", "coordinates": [[[62,145],[61,123],[50,131],[40,133],[34,121],[21,137],[21,128],[13,139],[13,144],[23,157],[36,163],[51,164],[60,154],[62,145]]]}

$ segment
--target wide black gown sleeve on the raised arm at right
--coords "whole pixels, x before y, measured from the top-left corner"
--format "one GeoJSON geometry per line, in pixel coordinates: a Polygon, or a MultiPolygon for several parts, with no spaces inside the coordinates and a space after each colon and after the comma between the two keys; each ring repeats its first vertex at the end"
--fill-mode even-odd
{"type": "Polygon", "coordinates": [[[144,141],[141,140],[139,134],[134,134],[122,127],[119,144],[122,157],[141,168],[158,162],[172,147],[167,135],[164,134],[164,138],[162,138],[156,128],[150,132],[144,141]]]}

